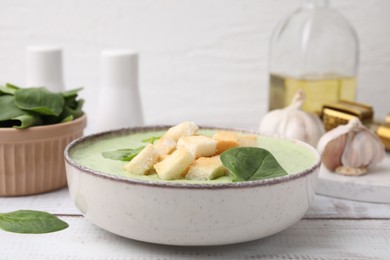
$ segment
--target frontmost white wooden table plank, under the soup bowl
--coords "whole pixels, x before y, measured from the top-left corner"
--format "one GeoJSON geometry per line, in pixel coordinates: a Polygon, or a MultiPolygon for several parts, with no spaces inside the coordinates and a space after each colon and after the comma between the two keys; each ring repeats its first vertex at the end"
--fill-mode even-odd
{"type": "Polygon", "coordinates": [[[390,220],[304,219],[274,236],[227,246],[176,247],[113,235],[79,216],[43,235],[0,231],[1,259],[390,259],[390,220]]]}

